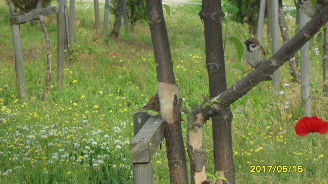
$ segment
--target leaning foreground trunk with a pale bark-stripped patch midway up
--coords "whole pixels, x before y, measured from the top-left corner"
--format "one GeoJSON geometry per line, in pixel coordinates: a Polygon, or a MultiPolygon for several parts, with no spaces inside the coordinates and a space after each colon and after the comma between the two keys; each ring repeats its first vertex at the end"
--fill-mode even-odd
{"type": "Polygon", "coordinates": [[[187,184],[187,160],[181,131],[180,103],[162,3],[160,0],[147,0],[146,6],[153,41],[164,136],[167,143],[170,182],[187,184]]]}

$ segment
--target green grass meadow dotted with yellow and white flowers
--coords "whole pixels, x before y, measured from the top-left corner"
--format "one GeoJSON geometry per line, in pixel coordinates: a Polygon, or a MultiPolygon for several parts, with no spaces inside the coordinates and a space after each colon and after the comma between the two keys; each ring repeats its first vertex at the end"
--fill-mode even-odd
{"type": "MultiPolygon", "coordinates": [[[[147,21],[140,21],[120,38],[93,41],[94,15],[91,3],[76,3],[76,53],[65,63],[64,89],[56,88],[56,16],[47,19],[52,52],[49,100],[40,101],[46,73],[46,46],[40,25],[21,25],[21,37],[29,100],[16,93],[14,55],[9,9],[0,2],[0,183],[132,183],[129,142],[133,137],[131,114],[157,90],[152,42],[147,21]],[[8,85],[8,88],[5,87],[8,85]]],[[[103,13],[104,5],[100,4],[103,13]]],[[[209,97],[205,67],[200,6],[173,5],[166,15],[174,72],[182,104],[190,110],[209,97]],[[192,77],[191,77],[192,76],[192,77]]],[[[101,22],[103,14],[100,14],[101,22]]],[[[293,17],[293,15],[291,16],[293,17]]],[[[109,18],[109,31],[113,27],[109,18]]],[[[294,33],[294,20],[288,21],[294,33]]],[[[223,23],[227,37],[251,37],[248,27],[223,23]],[[233,29],[232,29],[233,28],[233,29]]],[[[266,33],[264,30],[263,33],[266,33]]],[[[265,34],[264,34],[265,35],[265,34]]],[[[265,35],[266,36],[266,35],[265,35]]],[[[270,55],[268,38],[262,44],[270,55]]],[[[282,40],[280,40],[280,43],[282,40]]],[[[327,120],[327,98],[322,93],[322,43],[310,41],[312,113],[327,120]],[[314,49],[320,53],[315,54],[314,49]]],[[[227,82],[242,78],[232,67],[237,63],[232,42],[226,45],[227,82]]],[[[268,57],[269,58],[269,57],[268,57]]],[[[249,67],[245,60],[240,62],[249,67]]],[[[261,82],[231,105],[233,148],[237,183],[325,183],[328,168],[327,134],[299,137],[294,132],[301,115],[300,85],[290,80],[289,67],[280,68],[283,95],[270,82],[261,82]],[[290,84],[284,86],[283,84],[290,84]],[[289,108],[284,108],[285,102],[289,108]],[[311,140],[317,139],[314,147],[311,140]],[[303,166],[303,172],[251,173],[250,166],[303,166]]],[[[186,140],[187,117],[182,133],[186,140]]],[[[204,128],[208,172],[214,172],[212,125],[204,128]]],[[[153,156],[154,183],[168,183],[165,144],[153,156]]],[[[268,169],[268,168],[267,168],[268,169]]]]}

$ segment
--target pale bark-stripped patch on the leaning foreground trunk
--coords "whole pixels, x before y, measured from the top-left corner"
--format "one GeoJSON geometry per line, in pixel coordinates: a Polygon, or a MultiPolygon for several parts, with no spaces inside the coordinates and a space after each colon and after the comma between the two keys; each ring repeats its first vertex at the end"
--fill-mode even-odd
{"type": "Polygon", "coordinates": [[[158,82],[158,97],[163,121],[174,123],[174,101],[179,103],[176,84],[158,82]]]}

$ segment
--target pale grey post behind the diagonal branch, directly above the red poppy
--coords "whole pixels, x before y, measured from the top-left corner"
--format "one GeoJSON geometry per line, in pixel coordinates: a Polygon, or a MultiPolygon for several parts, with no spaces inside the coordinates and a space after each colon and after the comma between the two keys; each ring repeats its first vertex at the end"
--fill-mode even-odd
{"type": "MultiPolygon", "coordinates": [[[[305,15],[303,10],[300,10],[300,29],[308,22],[309,17],[305,15]]],[[[310,55],[309,42],[306,42],[300,51],[301,59],[301,94],[303,116],[311,116],[311,89],[310,89],[310,55]]]]}

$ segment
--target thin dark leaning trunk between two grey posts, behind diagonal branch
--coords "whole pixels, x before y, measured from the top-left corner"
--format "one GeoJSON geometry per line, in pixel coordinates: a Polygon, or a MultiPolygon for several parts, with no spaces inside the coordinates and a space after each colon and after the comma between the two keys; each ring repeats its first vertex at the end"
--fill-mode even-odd
{"type": "MultiPolygon", "coordinates": [[[[288,42],[291,38],[289,37],[288,27],[286,25],[285,15],[284,15],[283,9],[282,9],[282,0],[279,0],[278,3],[279,3],[279,8],[278,8],[279,9],[279,26],[280,26],[283,43],[285,43],[285,42],[288,42]]],[[[289,66],[290,66],[290,70],[291,70],[291,75],[294,78],[294,82],[299,83],[301,75],[300,75],[300,72],[297,70],[298,62],[297,62],[295,56],[289,60],[289,66]]]]}

